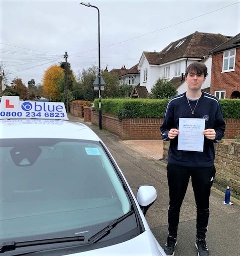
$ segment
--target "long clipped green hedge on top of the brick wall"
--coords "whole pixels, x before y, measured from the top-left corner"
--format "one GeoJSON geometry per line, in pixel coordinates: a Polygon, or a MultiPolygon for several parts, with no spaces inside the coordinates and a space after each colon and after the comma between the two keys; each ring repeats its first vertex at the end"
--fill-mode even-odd
{"type": "MultiPolygon", "coordinates": [[[[101,99],[103,113],[123,118],[163,118],[169,99],[101,99]]],[[[240,99],[220,99],[224,118],[240,118],[240,99]]],[[[98,99],[94,100],[95,110],[98,99]]]]}

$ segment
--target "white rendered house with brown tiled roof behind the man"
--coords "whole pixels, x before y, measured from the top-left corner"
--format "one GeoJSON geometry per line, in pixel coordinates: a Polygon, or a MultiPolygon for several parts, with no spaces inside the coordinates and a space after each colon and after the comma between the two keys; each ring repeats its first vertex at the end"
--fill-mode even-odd
{"type": "Polygon", "coordinates": [[[229,37],[220,34],[195,32],[175,42],[170,43],[161,52],[143,52],[138,63],[140,71],[140,86],[145,86],[150,92],[159,77],[165,77],[177,88],[177,93],[186,91],[184,74],[187,66],[194,61],[204,62],[208,69],[208,76],[202,86],[203,90],[210,90],[211,49],[226,42],[229,37]]]}

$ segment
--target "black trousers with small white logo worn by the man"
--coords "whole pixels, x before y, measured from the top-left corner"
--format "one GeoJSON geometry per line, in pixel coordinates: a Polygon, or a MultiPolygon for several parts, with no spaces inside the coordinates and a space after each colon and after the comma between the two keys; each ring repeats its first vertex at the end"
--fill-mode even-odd
{"type": "Polygon", "coordinates": [[[196,202],[196,238],[205,238],[209,218],[210,189],[215,177],[215,167],[184,167],[167,165],[167,180],[169,186],[168,231],[169,235],[177,236],[179,213],[184,199],[189,178],[196,202]]]}

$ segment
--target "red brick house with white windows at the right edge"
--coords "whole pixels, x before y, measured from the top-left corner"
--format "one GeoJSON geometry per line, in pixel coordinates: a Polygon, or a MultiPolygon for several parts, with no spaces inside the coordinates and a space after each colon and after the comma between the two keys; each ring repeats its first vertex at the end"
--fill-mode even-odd
{"type": "Polygon", "coordinates": [[[210,51],[210,93],[217,98],[240,98],[240,34],[210,51]]]}

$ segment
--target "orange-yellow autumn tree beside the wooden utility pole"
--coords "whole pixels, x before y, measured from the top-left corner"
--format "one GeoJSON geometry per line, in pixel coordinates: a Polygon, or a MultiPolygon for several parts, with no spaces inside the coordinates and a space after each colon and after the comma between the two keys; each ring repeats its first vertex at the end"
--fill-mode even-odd
{"type": "Polygon", "coordinates": [[[44,73],[43,88],[45,96],[53,101],[60,100],[60,92],[58,91],[57,84],[60,80],[64,79],[64,70],[58,65],[50,66],[44,73]]]}

